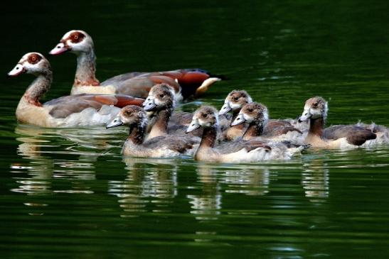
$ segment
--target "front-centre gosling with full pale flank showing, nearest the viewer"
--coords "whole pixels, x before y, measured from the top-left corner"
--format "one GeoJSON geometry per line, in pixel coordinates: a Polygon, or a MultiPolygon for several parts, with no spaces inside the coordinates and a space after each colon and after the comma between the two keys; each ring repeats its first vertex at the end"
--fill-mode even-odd
{"type": "Polygon", "coordinates": [[[304,146],[288,148],[282,143],[235,140],[215,146],[218,132],[218,111],[211,106],[201,106],[193,114],[186,132],[203,128],[201,143],[195,160],[208,162],[257,162],[262,160],[287,160],[304,149],[304,146]]]}

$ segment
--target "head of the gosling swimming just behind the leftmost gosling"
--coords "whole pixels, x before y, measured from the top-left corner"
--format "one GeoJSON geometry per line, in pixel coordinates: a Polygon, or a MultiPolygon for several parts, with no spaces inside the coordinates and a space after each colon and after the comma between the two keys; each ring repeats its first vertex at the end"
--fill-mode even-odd
{"type": "Polygon", "coordinates": [[[174,109],[176,99],[174,89],[169,84],[156,84],[151,88],[149,96],[142,104],[145,111],[160,111],[162,109],[174,109]]]}

